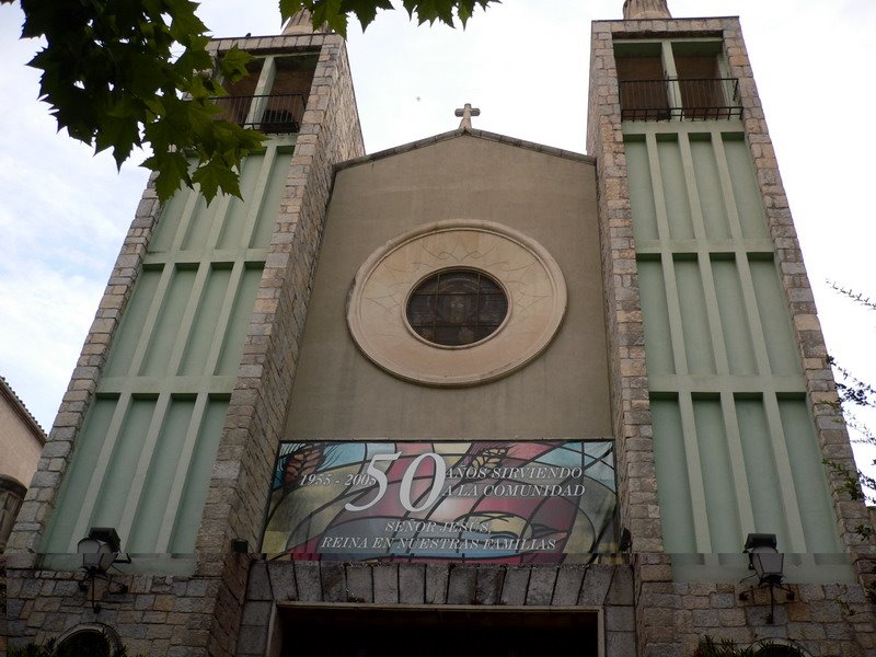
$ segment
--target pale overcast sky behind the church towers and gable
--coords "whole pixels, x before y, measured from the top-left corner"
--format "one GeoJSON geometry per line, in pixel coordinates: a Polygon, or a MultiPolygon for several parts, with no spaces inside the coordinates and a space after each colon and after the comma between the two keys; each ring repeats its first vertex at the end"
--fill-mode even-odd
{"type": "MultiPolygon", "coordinates": [[[[474,126],[585,152],[590,21],[622,0],[506,0],[465,31],[384,12],[349,58],[368,152],[474,126]]],[[[274,0],[205,0],[216,36],[280,32],[274,0]]],[[[816,290],[829,350],[876,381],[876,312],[831,291],[876,298],[872,203],[876,134],[874,0],[669,0],[676,18],[739,15],[816,290]]],[[[18,41],[18,5],[0,5],[0,374],[49,428],[147,173],[57,134],[36,101],[37,44],[18,41]]]]}

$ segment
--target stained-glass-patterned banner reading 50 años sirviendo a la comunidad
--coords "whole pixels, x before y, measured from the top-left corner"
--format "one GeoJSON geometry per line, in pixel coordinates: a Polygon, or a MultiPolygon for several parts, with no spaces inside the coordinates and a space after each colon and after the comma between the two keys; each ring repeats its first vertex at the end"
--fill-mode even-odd
{"type": "Polygon", "coordinates": [[[284,442],[268,558],[568,563],[616,552],[609,440],[284,442]]]}

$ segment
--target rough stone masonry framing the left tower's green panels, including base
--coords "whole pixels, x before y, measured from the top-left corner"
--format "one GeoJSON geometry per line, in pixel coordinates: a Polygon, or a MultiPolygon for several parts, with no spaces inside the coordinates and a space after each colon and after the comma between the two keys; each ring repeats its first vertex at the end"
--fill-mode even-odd
{"type": "MultiPolygon", "coordinates": [[[[19,515],[8,554],[8,631],[15,644],[45,642],[100,622],[129,654],[170,657],[232,655],[250,557],[231,553],[233,538],[255,549],[277,436],[285,420],[333,165],[364,152],[343,39],[331,34],[215,42],[250,51],[320,49],[308,108],[289,169],[241,368],[231,396],[197,539],[191,577],[123,575],[79,588],[81,573],[35,569],[36,551],[79,428],[106,360],[159,216],[152,184],[143,194],[77,369],[19,515]]],[[[123,566],[124,568],[124,566],[123,566]]],[[[136,568],[131,566],[129,568],[136,568]]]]}

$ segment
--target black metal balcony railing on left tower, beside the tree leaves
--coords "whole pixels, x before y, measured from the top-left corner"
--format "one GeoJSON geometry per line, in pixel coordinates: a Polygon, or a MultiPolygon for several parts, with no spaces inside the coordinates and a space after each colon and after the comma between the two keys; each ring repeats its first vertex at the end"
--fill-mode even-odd
{"type": "Polygon", "coordinates": [[[304,116],[304,96],[298,93],[219,96],[212,101],[221,110],[216,118],[269,135],[298,132],[304,116]]]}

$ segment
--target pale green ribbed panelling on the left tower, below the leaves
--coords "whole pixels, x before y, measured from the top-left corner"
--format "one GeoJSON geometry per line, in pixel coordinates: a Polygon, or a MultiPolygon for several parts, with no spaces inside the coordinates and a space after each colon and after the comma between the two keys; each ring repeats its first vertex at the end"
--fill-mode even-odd
{"type": "Polygon", "coordinates": [[[164,205],[43,550],[111,526],[140,564],[194,551],[292,148],[244,160],[243,200],[164,205]]]}

